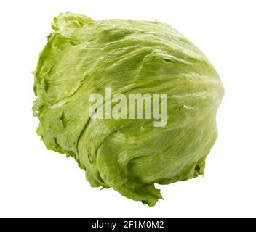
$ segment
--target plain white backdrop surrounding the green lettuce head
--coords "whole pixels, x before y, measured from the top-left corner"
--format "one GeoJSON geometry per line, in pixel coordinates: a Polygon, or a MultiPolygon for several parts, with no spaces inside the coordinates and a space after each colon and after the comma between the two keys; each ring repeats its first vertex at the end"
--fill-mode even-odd
{"type": "Polygon", "coordinates": [[[256,216],[256,1],[1,1],[0,216],[256,216]],[[159,20],[207,55],[225,87],[204,178],[158,186],[156,207],[91,188],[73,159],[47,151],[31,107],[39,51],[60,12],[159,20]]]}

